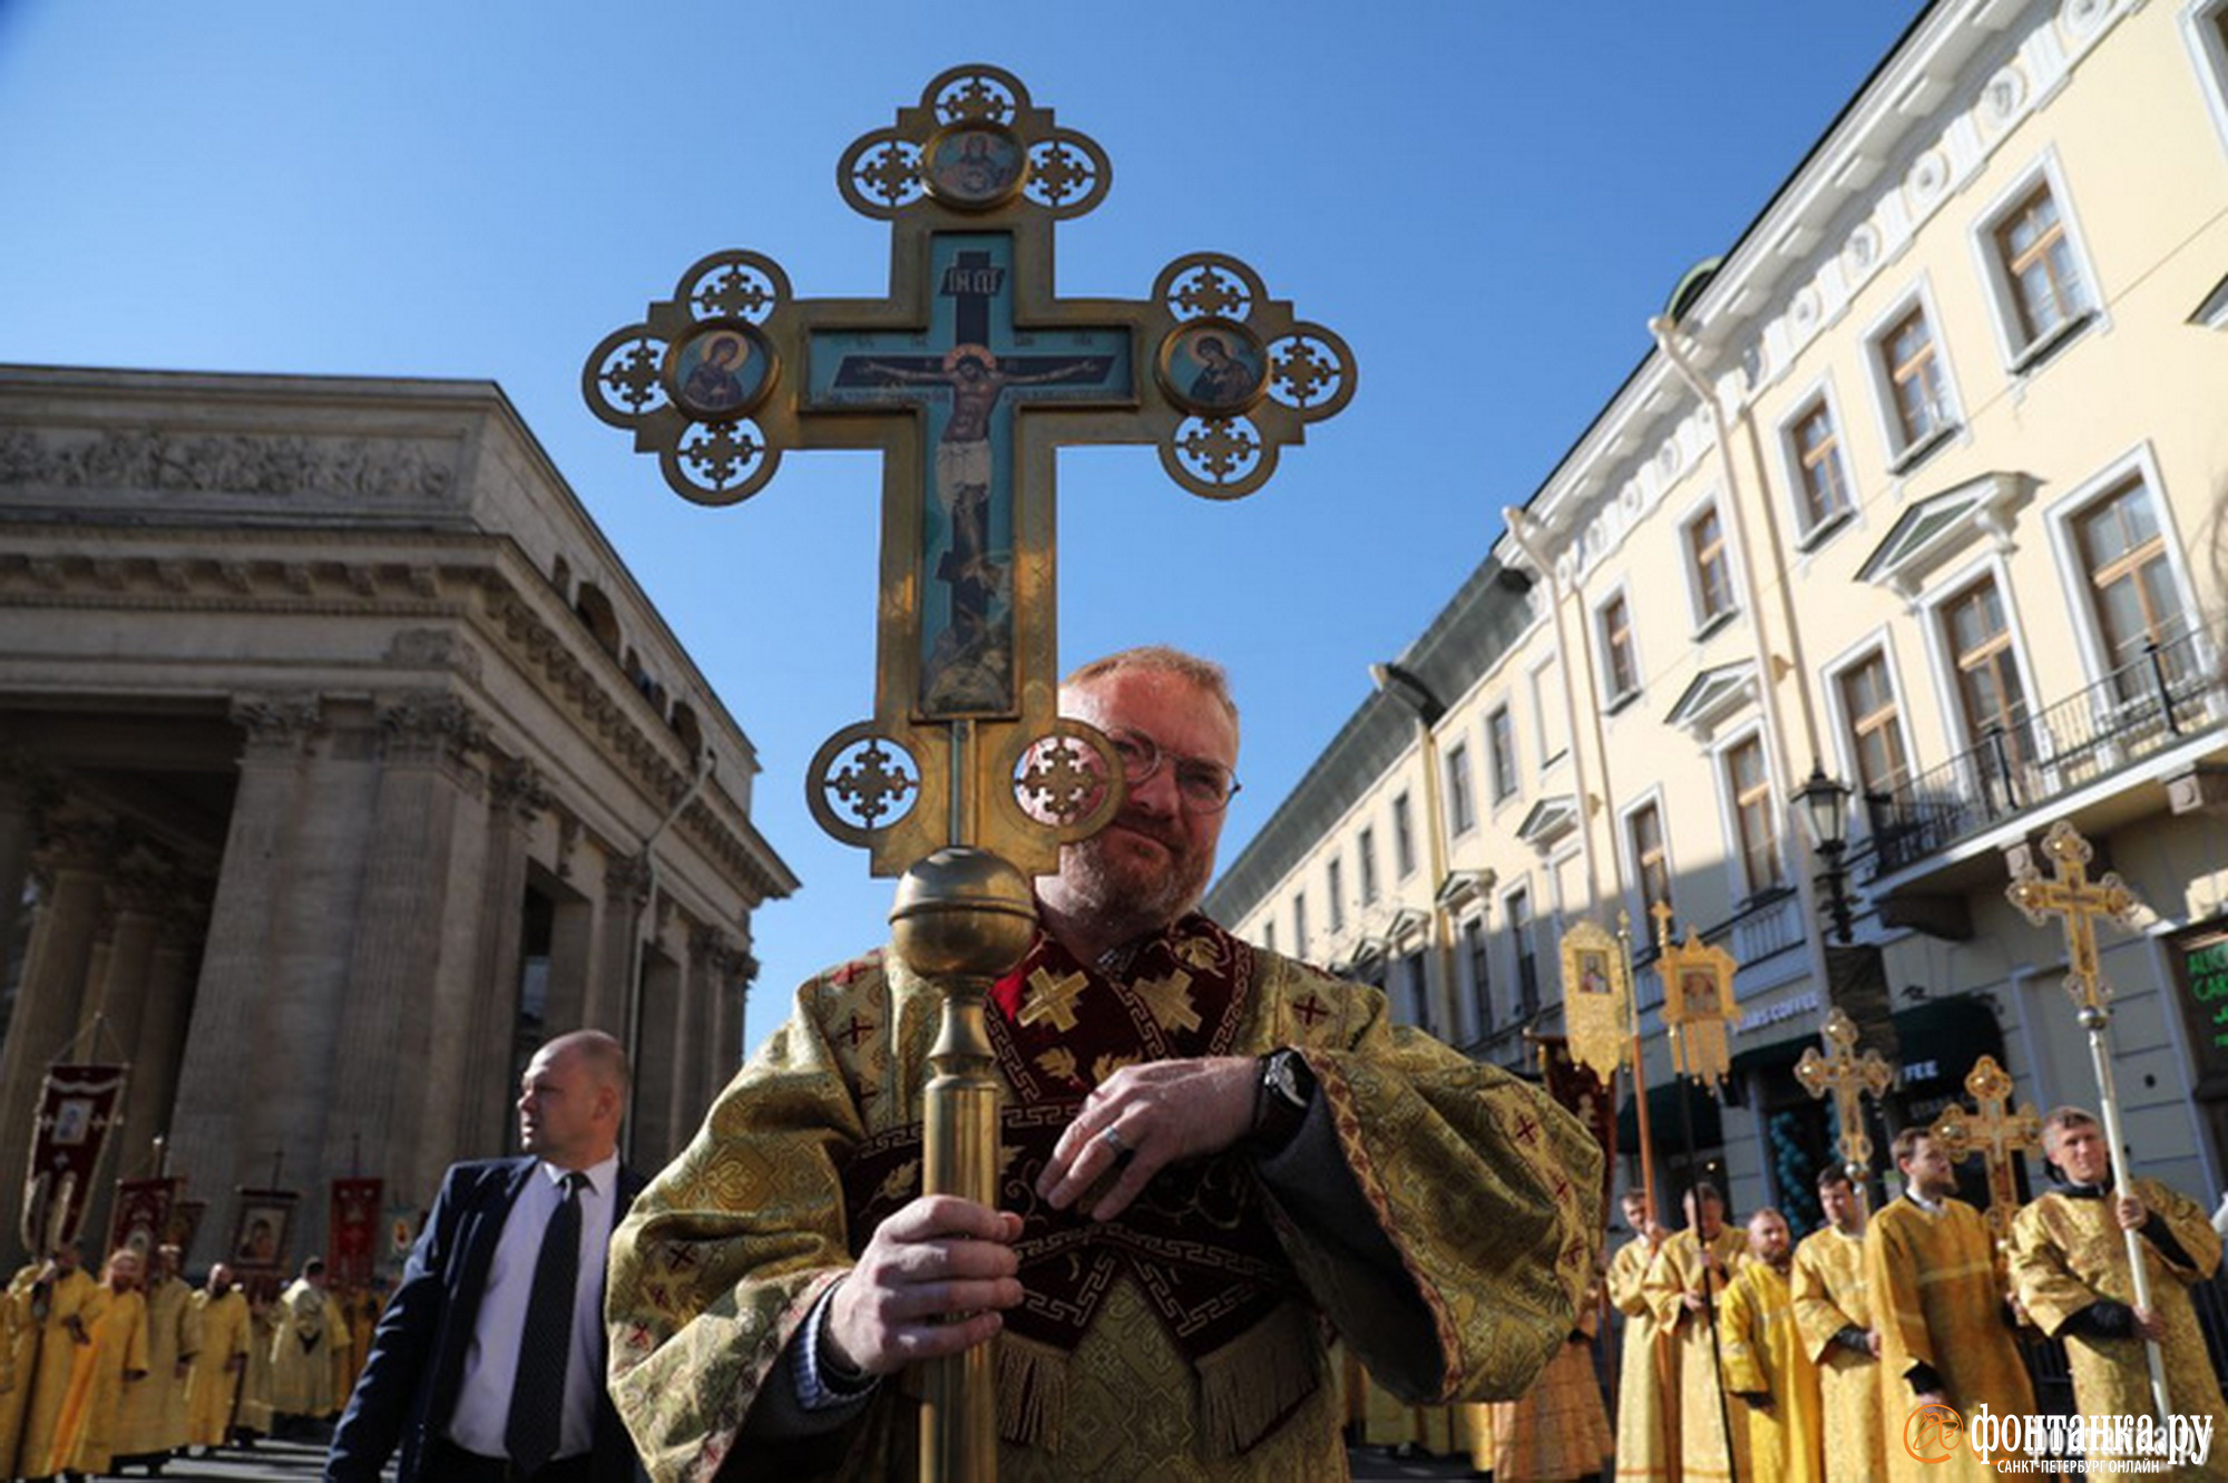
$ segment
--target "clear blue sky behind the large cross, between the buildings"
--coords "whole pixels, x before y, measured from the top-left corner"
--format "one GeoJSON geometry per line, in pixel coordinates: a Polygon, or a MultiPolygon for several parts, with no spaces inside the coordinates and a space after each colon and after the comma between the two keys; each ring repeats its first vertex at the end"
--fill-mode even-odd
{"type": "Polygon", "coordinates": [[[720,247],[882,292],[836,160],[969,60],[1114,160],[1063,294],[1216,249],[1339,330],[1355,403],[1252,499],[1145,448],[1061,463],[1063,659],[1237,677],[1232,860],[1921,9],[0,0],[0,361],[497,381],[760,748],[804,888],[755,920],[755,1044],[889,909],[800,782],[871,708],[880,474],[680,501],[579,401],[606,330],[720,247]]]}

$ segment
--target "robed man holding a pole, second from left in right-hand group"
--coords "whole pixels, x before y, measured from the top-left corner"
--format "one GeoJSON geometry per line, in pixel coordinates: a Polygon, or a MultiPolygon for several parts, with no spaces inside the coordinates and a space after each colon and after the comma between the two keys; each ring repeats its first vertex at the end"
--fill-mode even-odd
{"type": "Polygon", "coordinates": [[[1724,1394],[1724,1287],[1747,1249],[1747,1234],[1724,1225],[1724,1196],[1698,1182],[1687,1191],[1687,1229],[1664,1240],[1642,1287],[1655,1323],[1671,1336],[1678,1476],[1689,1483],[1716,1483],[1736,1470],[1756,1476],[1745,1461],[1747,1425],[1724,1394]]]}

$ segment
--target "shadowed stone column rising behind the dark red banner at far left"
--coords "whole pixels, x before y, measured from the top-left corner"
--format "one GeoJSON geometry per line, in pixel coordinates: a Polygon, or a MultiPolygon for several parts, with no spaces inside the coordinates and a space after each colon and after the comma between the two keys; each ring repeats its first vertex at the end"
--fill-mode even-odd
{"type": "MultiPolygon", "coordinates": [[[[29,1158],[38,1089],[78,1027],[116,839],[111,819],[71,804],[51,811],[40,835],[40,906],[22,982],[16,986],[7,1047],[0,1049],[0,1158],[7,1160],[29,1158]]],[[[20,1169],[20,1162],[0,1169],[0,1214],[7,1218],[4,1243],[11,1256],[22,1256],[16,1234],[22,1225],[20,1169]]]]}

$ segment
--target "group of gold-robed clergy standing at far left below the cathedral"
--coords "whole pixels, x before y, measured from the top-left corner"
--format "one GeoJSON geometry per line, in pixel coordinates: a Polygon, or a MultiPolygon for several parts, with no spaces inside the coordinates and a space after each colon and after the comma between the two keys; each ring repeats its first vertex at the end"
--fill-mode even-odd
{"type": "Polygon", "coordinates": [[[176,1456],[316,1438],[363,1367],[379,1296],[341,1294],[310,1258],[281,1287],[176,1247],[118,1247],[96,1278],[65,1243],[0,1294],[0,1472],[158,1474],[176,1456]]]}

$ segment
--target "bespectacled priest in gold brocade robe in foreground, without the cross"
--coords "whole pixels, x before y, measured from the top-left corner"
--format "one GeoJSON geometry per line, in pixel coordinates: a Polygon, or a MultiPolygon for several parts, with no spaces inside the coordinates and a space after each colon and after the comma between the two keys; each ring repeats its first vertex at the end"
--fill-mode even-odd
{"type": "Polygon", "coordinates": [[[1337,1476],[1326,1323],[1415,1405],[1522,1394],[1566,1340],[1584,1127],[1194,911],[1237,786],[1219,666],[1130,650],[1061,708],[1127,790],[980,1011],[996,1209],[920,1196],[938,989],[898,953],[807,982],[613,1240],[610,1389],[659,1483],[911,1476],[911,1367],[985,1343],[1000,1483],[1337,1476]]]}

